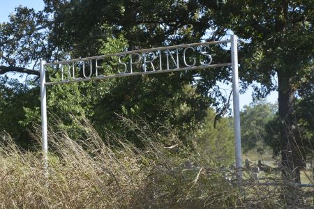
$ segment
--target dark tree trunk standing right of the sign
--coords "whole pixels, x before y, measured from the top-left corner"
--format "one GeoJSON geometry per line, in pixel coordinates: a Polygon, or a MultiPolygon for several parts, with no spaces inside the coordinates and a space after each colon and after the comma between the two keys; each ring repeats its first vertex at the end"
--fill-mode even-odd
{"type": "Polygon", "coordinates": [[[297,146],[295,133],[294,100],[295,90],[291,85],[291,77],[284,72],[278,72],[278,109],[281,121],[281,163],[283,178],[292,183],[301,183],[301,153],[297,146]]]}

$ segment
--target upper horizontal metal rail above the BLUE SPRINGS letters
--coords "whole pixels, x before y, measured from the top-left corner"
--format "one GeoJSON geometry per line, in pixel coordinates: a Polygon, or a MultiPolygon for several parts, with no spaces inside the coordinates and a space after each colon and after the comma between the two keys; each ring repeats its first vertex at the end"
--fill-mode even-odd
{"type": "Polygon", "coordinates": [[[90,56],[85,58],[79,58],[79,59],[70,59],[67,61],[59,61],[54,63],[45,63],[45,65],[58,65],[58,64],[66,64],[66,63],[73,63],[77,61],[88,61],[91,59],[103,59],[105,57],[110,56],[120,56],[124,54],[133,54],[133,53],[142,53],[142,52],[154,52],[158,50],[165,50],[165,49],[177,49],[177,48],[184,48],[184,47],[196,47],[196,46],[202,46],[202,45],[218,45],[223,43],[231,42],[231,40],[218,40],[218,41],[210,41],[210,42],[197,42],[192,44],[186,44],[186,45],[175,45],[175,46],[169,46],[169,47],[157,47],[157,48],[151,48],[151,49],[139,49],[139,50],[133,50],[128,52],[120,52],[120,53],[114,53],[114,54],[105,54],[100,56],[90,56]]]}

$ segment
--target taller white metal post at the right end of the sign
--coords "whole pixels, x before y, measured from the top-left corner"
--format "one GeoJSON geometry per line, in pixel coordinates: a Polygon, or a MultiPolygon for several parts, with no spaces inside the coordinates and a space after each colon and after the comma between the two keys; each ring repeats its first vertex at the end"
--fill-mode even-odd
{"type": "Polygon", "coordinates": [[[237,169],[237,178],[242,179],[242,156],[241,156],[241,132],[240,132],[240,104],[239,104],[239,73],[238,73],[238,47],[237,36],[231,35],[231,60],[232,60],[232,94],[234,116],[234,148],[237,169]]]}

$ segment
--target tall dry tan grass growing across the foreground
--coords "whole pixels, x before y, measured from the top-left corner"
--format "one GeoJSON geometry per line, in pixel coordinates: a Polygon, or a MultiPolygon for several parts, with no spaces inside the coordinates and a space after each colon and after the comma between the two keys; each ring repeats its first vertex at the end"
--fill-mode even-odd
{"type": "Polygon", "coordinates": [[[186,148],[175,134],[160,139],[152,131],[142,132],[132,121],[124,122],[144,148],[110,132],[101,139],[87,121],[80,124],[88,136],[84,140],[51,130],[47,173],[40,152],[20,150],[3,134],[0,208],[284,207],[276,187],[240,187],[227,180],[230,171],[208,164],[209,160],[186,148]]]}

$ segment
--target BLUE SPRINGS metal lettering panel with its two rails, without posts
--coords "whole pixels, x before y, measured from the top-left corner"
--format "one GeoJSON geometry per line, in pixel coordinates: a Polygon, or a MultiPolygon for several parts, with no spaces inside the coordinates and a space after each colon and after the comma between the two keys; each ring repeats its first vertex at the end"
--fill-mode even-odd
{"type": "Polygon", "coordinates": [[[212,56],[209,54],[210,45],[227,42],[230,41],[223,40],[141,49],[45,63],[45,66],[59,70],[59,81],[47,82],[45,85],[230,66],[231,63],[213,63],[212,56]],[[103,63],[114,65],[114,72],[106,72],[103,63]],[[79,72],[81,72],[81,75],[79,72]]]}

